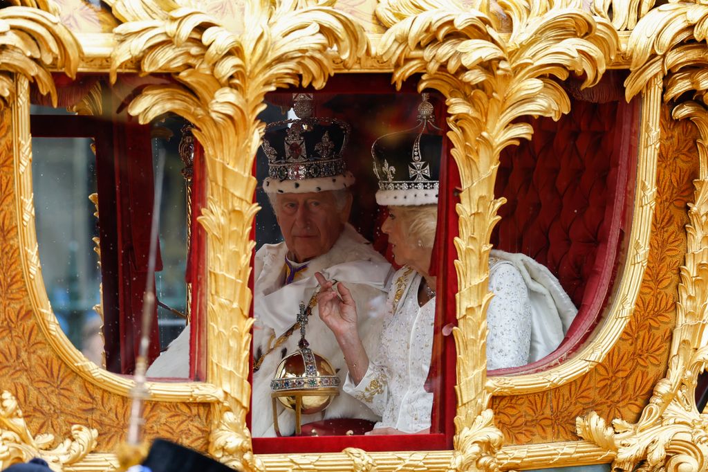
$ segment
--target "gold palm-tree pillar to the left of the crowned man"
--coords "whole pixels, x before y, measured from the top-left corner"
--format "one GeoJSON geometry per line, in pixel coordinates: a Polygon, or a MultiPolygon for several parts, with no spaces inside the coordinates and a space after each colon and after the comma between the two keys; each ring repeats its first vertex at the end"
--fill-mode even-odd
{"type": "Polygon", "coordinates": [[[249,235],[258,211],[251,168],[263,133],[258,113],[265,93],[277,87],[324,86],[333,72],[330,48],[350,67],[367,46],[362,28],[332,9],[333,1],[303,3],[249,2],[249,28],[241,35],[207,13],[169,2],[113,4],[116,16],[134,22],[115,29],[111,77],[129,60],[138,60],[142,72],[178,71],[178,84],[147,87],[129,113],[141,123],[177,113],[195,123],[193,134],[205,150],[208,197],[199,220],[207,233],[207,381],[224,390],[229,407],[215,415],[210,451],[237,468],[256,466],[246,411],[253,323],[249,235]]]}

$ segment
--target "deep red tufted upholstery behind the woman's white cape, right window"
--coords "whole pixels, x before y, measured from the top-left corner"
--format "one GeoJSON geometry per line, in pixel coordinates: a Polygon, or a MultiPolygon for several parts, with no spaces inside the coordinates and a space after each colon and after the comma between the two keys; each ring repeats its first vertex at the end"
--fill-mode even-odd
{"type": "Polygon", "coordinates": [[[597,324],[624,233],[637,109],[624,102],[574,101],[558,123],[530,120],[532,140],[502,153],[496,194],[507,203],[491,241],[547,266],[578,307],[578,316],[556,352],[530,366],[493,373],[556,364],[597,324]]]}

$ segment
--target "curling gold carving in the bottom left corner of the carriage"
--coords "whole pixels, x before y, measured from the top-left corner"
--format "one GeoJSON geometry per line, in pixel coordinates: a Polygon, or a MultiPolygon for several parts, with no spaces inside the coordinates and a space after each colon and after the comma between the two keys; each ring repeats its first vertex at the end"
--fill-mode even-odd
{"type": "Polygon", "coordinates": [[[6,468],[13,463],[26,462],[33,457],[41,457],[52,468],[61,470],[62,466],[71,466],[86,457],[96,448],[96,429],[85,426],[72,426],[72,439],[64,439],[54,449],[52,434],[38,434],[33,437],[25,424],[17,399],[8,391],[0,395],[0,467],[6,468]]]}

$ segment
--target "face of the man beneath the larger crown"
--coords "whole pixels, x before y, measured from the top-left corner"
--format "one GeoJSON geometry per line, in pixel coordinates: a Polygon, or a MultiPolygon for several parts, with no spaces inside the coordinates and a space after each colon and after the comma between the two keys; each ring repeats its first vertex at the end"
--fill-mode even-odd
{"type": "Polygon", "coordinates": [[[349,218],[349,205],[338,210],[331,191],[278,193],[275,218],[290,257],[306,262],[329,252],[349,218]]]}

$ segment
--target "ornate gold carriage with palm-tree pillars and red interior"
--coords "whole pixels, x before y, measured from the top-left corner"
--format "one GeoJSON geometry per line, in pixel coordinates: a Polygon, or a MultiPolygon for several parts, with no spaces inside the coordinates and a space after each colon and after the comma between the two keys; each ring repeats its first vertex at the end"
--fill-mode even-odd
{"type": "MultiPolygon", "coordinates": [[[[188,379],[147,384],[147,439],[171,439],[239,470],[708,468],[704,387],[697,388],[708,361],[702,2],[0,6],[2,466],[33,456],[55,470],[118,466],[134,383],[128,341],[137,336],[127,313],[137,313],[142,288],[135,286],[143,286],[130,281],[144,282],[145,254],[136,241],[144,241],[140,218],[149,215],[125,208],[152,203],[152,189],[144,191],[152,155],[136,149],[149,151],[152,138],[178,134],[194,174],[186,173],[186,198],[168,198],[181,201],[183,220],[176,221],[196,248],[182,297],[198,355],[188,379]],[[441,203],[447,298],[438,313],[454,328],[438,342],[439,404],[430,434],[376,442],[251,438],[255,162],[270,119],[261,113],[276,113],[287,87],[344,96],[332,113],[356,103],[413,103],[423,90],[437,94],[450,151],[441,203]],[[42,115],[50,105],[59,111],[42,115]],[[188,123],[166,125],[169,113],[188,123]],[[38,170],[58,148],[37,140],[57,137],[83,139],[84,153],[93,146],[81,159],[109,156],[84,173],[96,174],[94,200],[105,222],[96,235],[102,266],[93,271],[103,283],[97,311],[104,342],[114,342],[120,356],[107,349],[92,361],[75,347],[45,283],[51,264],[64,262],[38,245],[54,223],[39,222],[39,213],[51,212],[38,210],[35,199],[44,192],[51,201],[47,187],[72,184],[65,174],[55,184],[47,180],[60,166],[38,170]],[[33,148],[44,157],[33,157],[33,148]],[[539,183],[540,174],[552,182],[539,183]],[[549,186],[556,194],[544,201],[549,186]],[[533,249],[576,294],[584,315],[564,349],[488,375],[493,245],[533,249]],[[122,261],[128,249],[133,259],[122,261]],[[109,316],[124,323],[110,339],[109,316]]],[[[182,163],[173,167],[178,175],[182,163]]]]}

